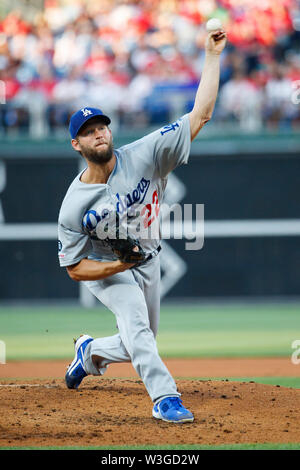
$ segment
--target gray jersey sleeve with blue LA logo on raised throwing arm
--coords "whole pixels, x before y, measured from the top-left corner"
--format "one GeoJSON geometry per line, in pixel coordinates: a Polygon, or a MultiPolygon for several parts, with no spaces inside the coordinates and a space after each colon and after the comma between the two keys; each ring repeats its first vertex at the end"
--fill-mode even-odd
{"type": "Polygon", "coordinates": [[[188,162],[191,130],[188,114],[153,133],[154,163],[161,178],[177,166],[188,162]]]}

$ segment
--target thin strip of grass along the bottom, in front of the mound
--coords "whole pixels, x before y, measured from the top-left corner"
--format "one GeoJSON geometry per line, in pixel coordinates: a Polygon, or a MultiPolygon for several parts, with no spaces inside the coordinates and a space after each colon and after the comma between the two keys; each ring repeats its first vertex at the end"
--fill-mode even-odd
{"type": "Polygon", "coordinates": [[[0,447],[0,450],[299,450],[300,443],[224,444],[214,445],[166,445],[166,446],[111,446],[111,447],[0,447]]]}

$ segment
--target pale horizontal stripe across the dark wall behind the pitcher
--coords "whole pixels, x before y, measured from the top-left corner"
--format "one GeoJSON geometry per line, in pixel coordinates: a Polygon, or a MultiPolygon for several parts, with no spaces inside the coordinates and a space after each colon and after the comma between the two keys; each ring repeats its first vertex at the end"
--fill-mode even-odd
{"type": "MultiPolygon", "coordinates": [[[[177,232],[177,224],[172,223],[170,233],[177,232]]],[[[184,238],[192,239],[203,235],[203,224],[185,221],[184,238]]],[[[209,220],[204,222],[204,238],[222,237],[272,237],[299,236],[300,219],[273,220],[209,220]]],[[[162,224],[164,238],[164,224],[162,224]]],[[[57,240],[57,224],[0,224],[0,241],[13,240],[57,240]]]]}

